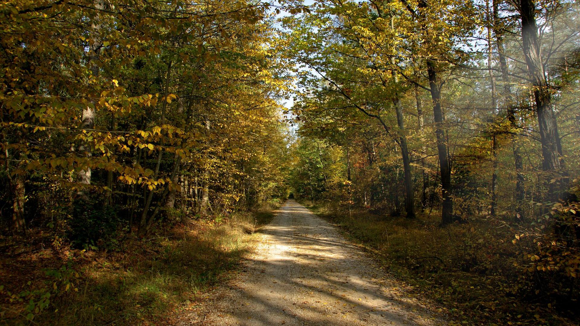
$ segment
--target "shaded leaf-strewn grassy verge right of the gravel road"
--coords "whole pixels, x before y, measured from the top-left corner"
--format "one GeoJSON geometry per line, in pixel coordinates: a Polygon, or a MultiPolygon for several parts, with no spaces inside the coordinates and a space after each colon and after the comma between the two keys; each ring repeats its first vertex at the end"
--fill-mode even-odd
{"type": "Polygon", "coordinates": [[[353,211],[349,216],[332,205],[302,204],[367,249],[416,295],[437,302],[441,313],[456,320],[449,325],[578,325],[573,307],[556,307],[527,293],[530,276],[514,267],[521,255],[513,236],[490,221],[441,228],[435,215],[407,219],[353,211]]]}

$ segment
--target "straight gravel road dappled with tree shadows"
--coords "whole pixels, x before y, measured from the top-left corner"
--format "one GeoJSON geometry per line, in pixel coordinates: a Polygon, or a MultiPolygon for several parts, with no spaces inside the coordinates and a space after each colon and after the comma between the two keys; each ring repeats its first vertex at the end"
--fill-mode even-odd
{"type": "Polygon", "coordinates": [[[204,325],[441,325],[331,224],[289,200],[204,325]]]}

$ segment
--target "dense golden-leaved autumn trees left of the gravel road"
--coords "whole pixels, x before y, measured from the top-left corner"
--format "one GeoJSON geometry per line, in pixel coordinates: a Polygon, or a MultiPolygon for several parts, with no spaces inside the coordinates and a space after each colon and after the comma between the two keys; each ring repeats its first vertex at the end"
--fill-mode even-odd
{"type": "Polygon", "coordinates": [[[269,5],[0,6],[2,223],[83,246],[285,193],[269,5]]]}

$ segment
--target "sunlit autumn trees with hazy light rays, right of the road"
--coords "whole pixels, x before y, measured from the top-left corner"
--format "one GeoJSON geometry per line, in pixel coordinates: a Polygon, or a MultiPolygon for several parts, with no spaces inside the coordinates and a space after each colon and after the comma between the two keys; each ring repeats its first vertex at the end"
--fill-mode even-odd
{"type": "Polygon", "coordinates": [[[310,10],[285,19],[300,67],[296,194],[342,212],[505,227],[530,293],[577,288],[577,3],[310,10]]]}

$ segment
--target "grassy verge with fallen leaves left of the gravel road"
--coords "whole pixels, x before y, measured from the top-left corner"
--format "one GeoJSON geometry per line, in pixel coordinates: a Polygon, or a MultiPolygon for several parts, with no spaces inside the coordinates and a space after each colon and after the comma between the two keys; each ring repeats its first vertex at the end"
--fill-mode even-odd
{"type": "Polygon", "coordinates": [[[36,234],[1,253],[0,325],[171,324],[234,275],[277,206],[187,220],[108,252],[36,234]]]}

